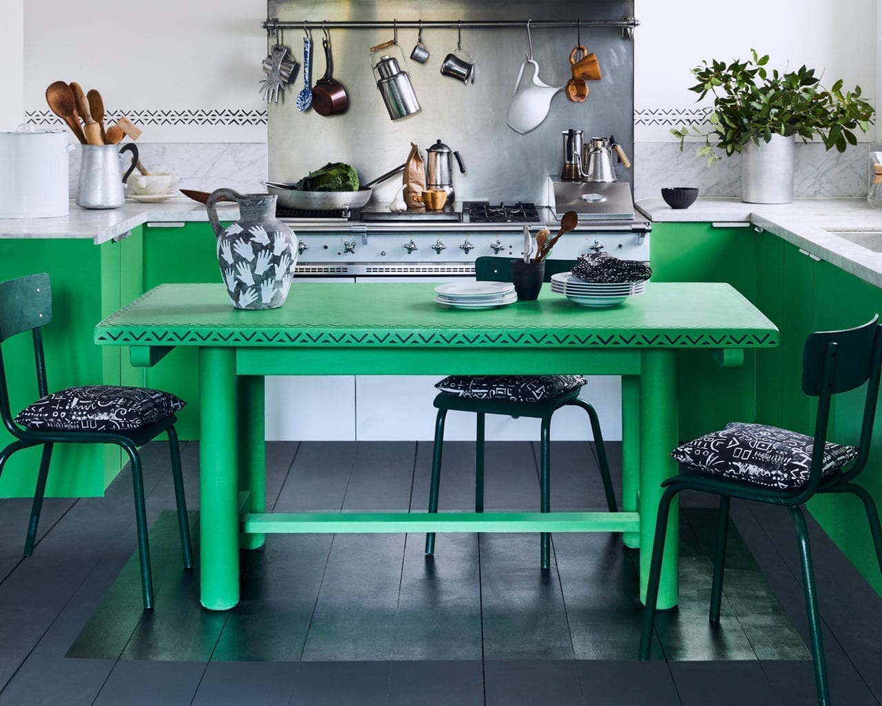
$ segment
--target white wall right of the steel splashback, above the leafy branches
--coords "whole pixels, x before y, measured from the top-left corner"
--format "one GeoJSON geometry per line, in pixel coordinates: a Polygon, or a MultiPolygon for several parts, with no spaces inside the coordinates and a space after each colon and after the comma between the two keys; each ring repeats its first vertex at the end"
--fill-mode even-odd
{"type": "MultiPolygon", "coordinates": [[[[831,86],[859,84],[864,97],[877,94],[880,0],[635,0],[634,139],[670,141],[669,128],[688,122],[699,106],[689,86],[702,60],[731,61],[750,49],[770,56],[772,68],[806,64],[831,86]]],[[[875,140],[871,131],[860,138],[875,140]]]]}

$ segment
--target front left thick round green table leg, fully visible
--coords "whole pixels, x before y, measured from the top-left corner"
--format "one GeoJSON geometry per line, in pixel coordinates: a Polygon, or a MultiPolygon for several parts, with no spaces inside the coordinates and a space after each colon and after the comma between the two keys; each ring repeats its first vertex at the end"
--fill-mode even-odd
{"type": "Polygon", "coordinates": [[[199,349],[199,527],[202,605],[239,602],[238,385],[235,349],[199,349]]]}

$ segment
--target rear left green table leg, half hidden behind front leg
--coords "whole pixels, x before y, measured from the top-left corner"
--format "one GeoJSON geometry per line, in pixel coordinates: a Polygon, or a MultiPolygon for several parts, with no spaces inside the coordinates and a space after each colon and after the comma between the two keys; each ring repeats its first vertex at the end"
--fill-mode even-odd
{"type": "MultiPolygon", "coordinates": [[[[243,375],[239,378],[239,492],[248,493],[248,513],[266,509],[264,416],[264,379],[243,375]]],[[[243,534],[239,546],[257,549],[264,540],[265,535],[243,534]]]]}

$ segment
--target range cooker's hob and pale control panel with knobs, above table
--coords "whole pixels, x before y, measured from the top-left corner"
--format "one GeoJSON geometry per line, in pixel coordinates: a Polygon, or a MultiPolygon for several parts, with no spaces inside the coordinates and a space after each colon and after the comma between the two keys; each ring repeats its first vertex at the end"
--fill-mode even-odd
{"type": "MultiPolygon", "coordinates": [[[[553,257],[605,251],[648,261],[651,224],[635,218],[632,205],[630,213],[624,210],[580,220],[558,241],[553,257]]],[[[456,202],[437,213],[392,214],[366,207],[351,214],[280,216],[297,234],[297,274],[311,277],[473,276],[480,255],[523,256],[525,223],[534,233],[548,228],[552,236],[559,227],[551,208],[520,202],[456,202]]]]}

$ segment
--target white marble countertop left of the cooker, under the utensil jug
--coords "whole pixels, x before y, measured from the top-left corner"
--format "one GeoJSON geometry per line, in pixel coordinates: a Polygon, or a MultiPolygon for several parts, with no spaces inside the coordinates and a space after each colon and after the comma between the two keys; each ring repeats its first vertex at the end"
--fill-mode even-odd
{"type": "MultiPolygon", "coordinates": [[[[237,220],[235,204],[219,203],[224,220],[237,220]]],[[[89,238],[94,244],[125,237],[148,221],[208,221],[204,204],[186,197],[173,197],[159,204],[142,204],[127,199],[118,208],[87,209],[71,201],[70,213],[56,218],[0,218],[0,238],[89,238]]]]}

